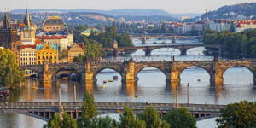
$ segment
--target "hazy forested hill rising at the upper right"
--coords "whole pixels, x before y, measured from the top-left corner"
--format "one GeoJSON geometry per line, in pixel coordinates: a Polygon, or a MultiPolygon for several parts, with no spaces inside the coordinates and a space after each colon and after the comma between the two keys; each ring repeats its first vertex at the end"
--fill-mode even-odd
{"type": "MultiPolygon", "coordinates": [[[[235,5],[226,5],[218,10],[208,13],[210,19],[228,19],[233,18],[237,15],[245,15],[247,17],[253,16],[256,18],[256,3],[240,3],[235,5]]],[[[204,19],[206,15],[202,15],[201,18],[204,19]]]]}

